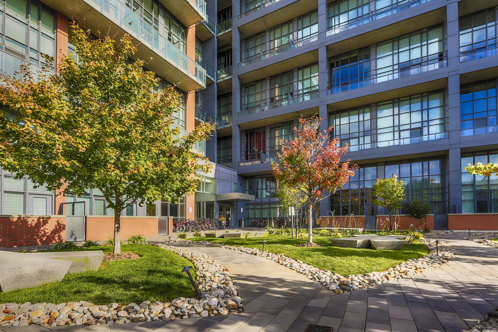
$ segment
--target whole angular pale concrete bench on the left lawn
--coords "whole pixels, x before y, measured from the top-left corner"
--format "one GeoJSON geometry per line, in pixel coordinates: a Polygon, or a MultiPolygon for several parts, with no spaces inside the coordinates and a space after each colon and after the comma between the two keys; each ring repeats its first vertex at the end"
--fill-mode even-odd
{"type": "Polygon", "coordinates": [[[0,292],[61,281],[67,273],[98,270],[103,257],[102,250],[37,253],[0,250],[0,292]]]}

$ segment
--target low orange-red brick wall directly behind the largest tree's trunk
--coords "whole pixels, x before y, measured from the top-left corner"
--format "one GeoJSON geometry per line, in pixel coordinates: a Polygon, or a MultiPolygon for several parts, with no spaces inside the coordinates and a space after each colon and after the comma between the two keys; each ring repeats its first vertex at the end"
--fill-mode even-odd
{"type": "MultiPolygon", "coordinates": [[[[106,240],[114,237],[114,217],[86,216],[85,234],[87,240],[106,240]]],[[[157,236],[157,217],[121,217],[121,238],[131,235],[157,236]]]]}

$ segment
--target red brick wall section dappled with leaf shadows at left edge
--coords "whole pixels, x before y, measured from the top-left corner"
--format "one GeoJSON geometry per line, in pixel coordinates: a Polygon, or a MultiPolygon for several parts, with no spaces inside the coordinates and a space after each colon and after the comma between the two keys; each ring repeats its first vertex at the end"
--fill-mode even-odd
{"type": "Polygon", "coordinates": [[[52,244],[65,238],[65,216],[0,215],[0,248],[52,244]]]}

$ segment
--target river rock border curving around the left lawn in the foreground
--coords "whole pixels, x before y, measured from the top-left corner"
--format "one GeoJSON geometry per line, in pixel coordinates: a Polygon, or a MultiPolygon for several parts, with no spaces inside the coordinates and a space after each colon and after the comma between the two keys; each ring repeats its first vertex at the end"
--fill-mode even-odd
{"type": "MultiPolygon", "coordinates": [[[[130,322],[179,320],[186,318],[238,314],[243,311],[227,269],[208,255],[186,248],[158,245],[190,260],[202,300],[176,298],[171,302],[143,301],[140,304],[95,305],[86,301],[61,304],[30,302],[0,304],[0,328],[38,325],[99,325],[130,322]]],[[[146,282],[146,281],[145,281],[146,282]]]]}

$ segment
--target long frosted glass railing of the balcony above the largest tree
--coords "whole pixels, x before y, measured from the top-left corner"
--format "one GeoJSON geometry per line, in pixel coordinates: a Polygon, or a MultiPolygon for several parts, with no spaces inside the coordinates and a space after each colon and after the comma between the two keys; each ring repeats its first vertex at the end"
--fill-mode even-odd
{"type": "MultiPolygon", "coordinates": [[[[124,2],[119,0],[85,0],[96,10],[115,22],[124,31],[129,32],[141,43],[149,46],[157,54],[163,56],[165,60],[174,65],[177,69],[185,73],[191,79],[202,86],[206,86],[206,70],[189,58],[172,42],[166,39],[152,26],[147,24],[140,16],[126,7],[124,2]]],[[[202,1],[203,0],[196,0],[202,1]]],[[[205,4],[205,2],[204,2],[205,4]]],[[[205,10],[205,9],[204,9],[205,10]]]]}

